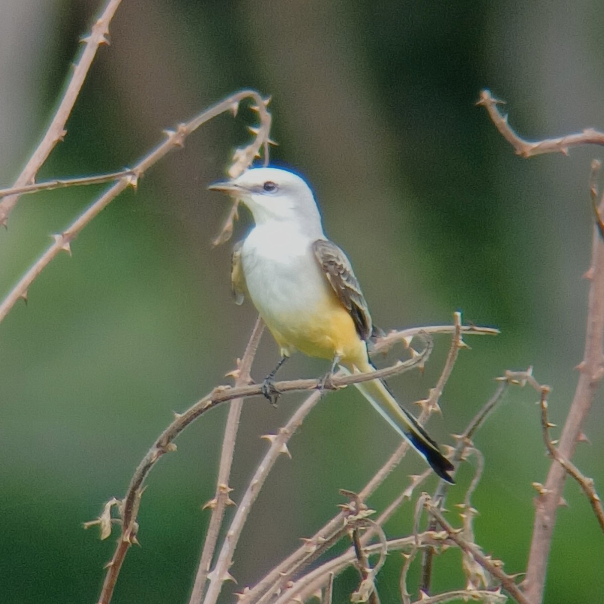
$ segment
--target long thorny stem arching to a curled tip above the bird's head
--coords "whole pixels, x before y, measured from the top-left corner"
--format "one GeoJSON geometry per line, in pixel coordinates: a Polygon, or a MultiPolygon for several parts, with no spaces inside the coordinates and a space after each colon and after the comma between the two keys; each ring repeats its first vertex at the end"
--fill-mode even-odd
{"type": "MultiPolygon", "coordinates": [[[[231,95],[223,101],[220,101],[220,103],[215,104],[213,107],[206,109],[197,117],[193,118],[193,120],[190,120],[184,124],[179,124],[176,130],[167,131],[167,138],[163,143],[159,144],[155,149],[148,153],[132,169],[127,170],[126,176],[121,177],[118,182],[116,182],[105,193],[103,193],[100,198],[94,201],[87,210],[85,210],[79,217],[77,217],[76,220],[74,220],[74,222],[71,223],[71,225],[68,226],[68,228],[66,228],[65,231],[63,231],[63,233],[54,235],[53,244],[40,256],[40,258],[25,273],[21,280],[16,284],[16,286],[14,286],[14,288],[8,293],[7,297],[4,298],[0,304],[0,321],[4,320],[5,316],[18,300],[27,299],[28,288],[30,287],[31,283],[33,283],[40,272],[42,272],[43,269],[45,269],[61,251],[66,251],[71,254],[72,240],[76,239],[83,228],[88,225],[95,216],[104,210],[104,208],[106,208],[107,205],[111,203],[122,191],[124,191],[124,189],[129,186],[136,187],[140,176],[149,170],[152,165],[156,164],[156,162],[167,155],[167,153],[174,149],[182,148],[185,138],[198,129],[199,126],[225,111],[234,111],[234,108],[236,108],[240,101],[245,98],[251,98],[255,103],[259,104],[261,108],[259,111],[260,128],[258,129],[256,138],[251,144],[243,149],[237,150],[236,159],[233,166],[231,166],[231,170],[243,170],[242,166],[245,161],[248,162],[246,165],[250,165],[252,161],[254,161],[254,157],[260,152],[260,149],[264,148],[268,144],[269,131],[271,128],[271,116],[268,111],[266,111],[266,101],[263,100],[263,98],[257,92],[252,90],[243,90],[231,95]]],[[[16,200],[17,198],[15,196],[10,196],[5,198],[4,202],[8,202],[10,199],[16,200]]],[[[2,204],[0,204],[0,206],[1,205],[2,204]]]]}

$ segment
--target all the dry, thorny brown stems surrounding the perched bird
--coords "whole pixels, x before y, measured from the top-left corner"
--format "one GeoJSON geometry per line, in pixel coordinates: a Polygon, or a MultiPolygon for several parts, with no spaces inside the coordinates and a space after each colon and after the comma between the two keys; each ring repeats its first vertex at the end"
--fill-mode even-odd
{"type": "MultiPolygon", "coordinates": [[[[237,92],[206,109],[193,120],[178,124],[173,130],[167,130],[165,140],[158,144],[155,149],[146,153],[140,161],[129,169],[118,173],[80,179],[54,179],[43,183],[35,182],[38,170],[46,161],[54,146],[66,136],[66,121],[71,114],[74,103],[76,103],[98,48],[107,42],[109,24],[119,4],[120,0],[109,0],[101,10],[100,16],[89,35],[82,39],[82,53],[74,66],[65,94],[47,132],[13,187],[0,190],[0,224],[7,224],[11,210],[13,210],[22,194],[34,193],[48,188],[102,182],[112,182],[113,184],[100,197],[92,201],[88,209],[77,216],[62,233],[54,236],[52,245],[34,262],[24,277],[19,280],[4,301],[0,303],[0,321],[10,312],[16,301],[19,299],[27,300],[28,290],[33,281],[36,280],[37,275],[46,268],[60,251],[71,253],[72,240],[82,232],[83,228],[101,210],[127,187],[136,187],[138,179],[144,172],[170,151],[181,148],[185,138],[216,115],[225,111],[232,111],[236,114],[240,102],[246,99],[254,103],[254,109],[259,115],[259,126],[250,128],[254,135],[251,143],[242,149],[238,149],[234,154],[229,170],[230,175],[233,176],[243,172],[252,164],[255,158],[263,157],[265,164],[268,162],[268,145],[271,143],[269,138],[271,115],[267,109],[268,100],[255,91],[245,90],[237,92]]],[[[503,137],[513,145],[516,153],[523,157],[530,157],[539,153],[567,153],[571,146],[587,143],[604,144],[604,135],[591,129],[557,139],[534,143],[525,141],[509,127],[507,117],[502,115],[498,109],[498,103],[499,101],[496,101],[488,91],[483,91],[478,104],[487,109],[493,123],[500,130],[503,137]]],[[[277,564],[265,577],[257,580],[254,585],[242,588],[239,593],[241,604],[304,602],[317,594],[320,594],[323,603],[331,603],[333,602],[335,577],[350,566],[355,567],[359,573],[359,586],[350,596],[352,601],[375,604],[379,602],[375,582],[376,575],[384,564],[387,554],[395,551],[400,551],[404,556],[400,575],[400,597],[405,604],[412,602],[409,593],[408,570],[419,553],[422,554],[422,573],[418,586],[420,590],[418,597],[423,604],[448,602],[455,599],[476,599],[494,603],[504,602],[507,596],[521,604],[539,604],[543,599],[545,571],[550,552],[551,535],[556,521],[556,509],[563,501],[562,488],[567,476],[574,478],[579,483],[590,501],[600,527],[604,531],[604,512],[593,481],[585,477],[571,461],[577,443],[584,438],[582,426],[603,373],[604,243],[602,237],[604,221],[602,220],[602,214],[604,213],[604,199],[599,199],[596,184],[598,170],[599,163],[594,162],[590,188],[596,219],[594,220],[591,266],[586,272],[586,277],[590,279],[591,284],[585,353],[582,362],[579,364],[579,382],[559,442],[554,441],[550,436],[550,431],[554,427],[548,421],[547,415],[547,396],[550,388],[540,385],[536,381],[531,368],[521,372],[506,372],[503,377],[499,378],[500,385],[492,399],[487,401],[483,408],[477,412],[463,433],[455,436],[456,445],[449,452],[449,458],[454,463],[456,470],[459,464],[463,463],[469,456],[473,456],[477,460],[474,479],[466,490],[463,502],[457,504],[460,510],[459,526],[454,526],[443,512],[443,504],[448,495],[448,484],[440,481],[432,495],[423,492],[417,497],[413,535],[391,537],[385,533],[385,522],[391,518],[403,502],[413,498],[419,491],[419,487],[430,475],[430,471],[426,470],[421,475],[411,477],[405,488],[381,512],[378,513],[368,507],[368,498],[405,455],[408,445],[403,442],[360,492],[341,491],[344,497],[341,510],[323,527],[319,528],[315,535],[304,539],[303,544],[296,551],[277,564]],[[484,468],[483,458],[480,451],[474,448],[472,438],[480,426],[483,425],[490,411],[503,398],[507,388],[512,384],[530,385],[538,391],[543,437],[548,454],[551,457],[550,471],[545,483],[533,483],[538,492],[535,499],[535,526],[527,568],[525,573],[522,573],[525,578],[521,583],[516,580],[518,575],[507,574],[503,570],[501,561],[487,556],[481,551],[481,548],[475,542],[472,530],[472,519],[477,511],[472,507],[471,495],[478,486],[484,468]],[[426,526],[422,529],[423,515],[426,515],[426,526]],[[348,540],[350,547],[342,554],[333,555],[332,557],[326,556],[325,554],[330,551],[333,545],[341,542],[342,539],[348,540]],[[431,577],[435,556],[452,547],[461,550],[466,585],[463,588],[457,588],[446,593],[431,594],[431,577]],[[314,565],[311,569],[310,565],[321,556],[323,562],[314,565]]],[[[234,203],[230,216],[216,239],[216,244],[228,240],[236,214],[237,202],[234,203]]],[[[137,467],[124,498],[108,501],[101,516],[97,520],[86,524],[86,526],[100,525],[102,538],[106,538],[111,534],[112,525],[117,524],[119,526],[120,535],[117,547],[114,556],[107,565],[106,577],[98,600],[101,604],[108,604],[111,601],[120,569],[130,545],[137,543],[138,509],[141,505],[144,483],[150,470],[162,455],[176,450],[173,441],[191,422],[202,417],[211,408],[227,402],[230,405],[230,411],[223,437],[216,490],[214,496],[205,506],[206,509],[210,510],[211,518],[198,562],[190,604],[201,604],[201,602],[214,604],[219,597],[224,582],[232,578],[230,567],[233,564],[234,553],[249,511],[277,459],[281,454],[289,455],[289,439],[324,393],[324,384],[316,379],[297,379],[275,384],[277,390],[283,394],[291,391],[308,391],[309,396],[297,408],[286,425],[280,428],[276,434],[263,437],[268,441],[268,450],[260,460],[257,471],[249,482],[242,498],[237,502],[233,501],[230,495],[229,480],[240,412],[246,399],[252,396],[260,396],[262,393],[262,387],[253,384],[250,377],[252,361],[262,332],[263,324],[259,319],[252,330],[242,359],[238,361],[237,368],[230,374],[234,378],[234,385],[214,388],[210,394],[194,403],[187,411],[176,415],[174,421],[156,439],[137,467]],[[225,509],[227,506],[233,505],[237,506],[237,510],[231,524],[224,532],[222,524],[225,509]],[[225,536],[219,544],[221,534],[225,534],[225,536]]],[[[422,329],[390,332],[374,342],[373,352],[385,352],[394,344],[402,342],[410,353],[408,360],[397,361],[391,367],[379,370],[377,373],[347,374],[342,370],[333,377],[330,387],[344,388],[347,385],[367,379],[393,376],[413,369],[421,370],[432,350],[432,335],[440,333],[452,335],[451,347],[437,384],[429,391],[426,399],[419,401],[422,408],[419,421],[423,424],[431,414],[440,411],[440,397],[446,382],[451,376],[458,352],[465,346],[463,336],[494,334],[496,330],[463,326],[460,313],[455,313],[452,326],[431,326],[422,329]],[[411,346],[414,338],[421,343],[419,352],[411,346]]]]}

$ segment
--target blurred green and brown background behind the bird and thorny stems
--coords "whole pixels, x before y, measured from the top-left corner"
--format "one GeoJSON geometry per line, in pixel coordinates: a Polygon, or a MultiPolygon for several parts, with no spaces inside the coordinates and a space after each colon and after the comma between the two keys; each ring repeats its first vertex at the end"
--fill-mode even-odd
{"type": "MultiPolygon", "coordinates": [[[[0,176],[9,185],[48,123],[98,4],[2,0],[0,176]]],[[[131,165],[161,130],[243,87],[272,95],[272,158],[316,190],[326,231],[349,253],[374,321],[385,329],[451,320],[498,326],[468,339],[429,426],[452,443],[504,370],[535,366],[561,423],[576,385],[585,333],[592,217],[590,160],[516,158],[483,109],[489,87],[529,138],[604,127],[604,10],[599,2],[200,2],[124,0],[40,178],[131,165]]],[[[242,355],[254,310],[231,303],[230,246],[212,249],[227,204],[205,190],[245,143],[254,114],[217,118],[150,170],[60,255],[0,326],[0,602],[95,602],[114,539],[82,530],[123,495],[156,435],[242,355]]],[[[21,199],[0,233],[2,295],[102,187],[21,199]]],[[[236,237],[249,227],[243,214],[236,237]]],[[[449,346],[437,339],[425,375],[392,386],[425,397],[449,346]]],[[[277,359],[265,336],[253,374],[277,359]]],[[[295,358],[283,377],[318,376],[295,358]]],[[[266,443],[300,396],[246,403],[231,486],[238,500],[266,443]]],[[[475,439],[486,471],[474,496],[478,543],[522,571],[533,521],[530,486],[548,461],[536,394],[512,390],[475,439]]],[[[604,485],[602,401],[576,462],[604,485]]],[[[150,475],[115,602],[184,602],[213,496],[226,408],[178,439],[150,475]]],[[[393,451],[396,434],[356,391],[329,396],[291,442],[252,511],[231,572],[243,588],[336,512],[338,488],[360,489],[393,451]]],[[[410,456],[371,498],[382,509],[422,469],[410,456]]],[[[472,471],[452,490],[463,496],[472,471]]],[[[429,484],[433,489],[434,479],[429,484]]],[[[545,600],[597,601],[602,535],[576,484],[567,484],[545,600]]],[[[390,535],[410,530],[405,504],[390,535]]],[[[457,516],[451,513],[453,522],[457,516]]],[[[399,599],[401,559],[379,577],[399,599]]],[[[463,585],[459,556],[439,560],[435,591],[463,585]]],[[[414,571],[417,568],[414,567],[414,571]]],[[[414,575],[416,576],[416,575],[414,575]]],[[[336,583],[336,602],[358,582],[336,583]]],[[[231,602],[231,585],[223,602],[231,602]]]]}

